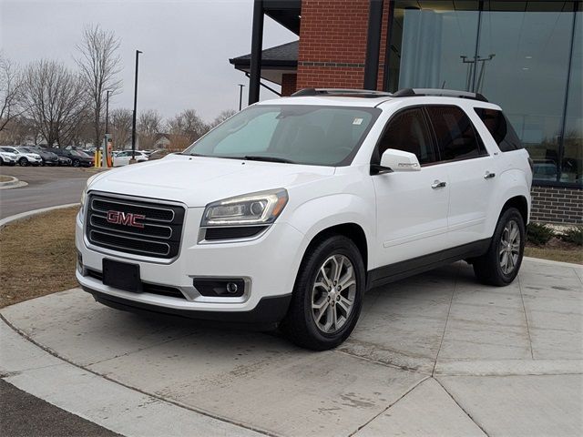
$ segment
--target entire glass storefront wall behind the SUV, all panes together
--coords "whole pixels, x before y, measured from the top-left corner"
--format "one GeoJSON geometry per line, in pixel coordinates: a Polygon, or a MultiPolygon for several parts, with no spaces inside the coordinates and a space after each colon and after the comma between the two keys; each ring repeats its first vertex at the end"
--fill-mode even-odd
{"type": "Polygon", "coordinates": [[[535,161],[538,181],[580,184],[583,38],[580,12],[573,38],[576,5],[396,0],[388,90],[444,87],[482,93],[504,109],[535,161]]]}

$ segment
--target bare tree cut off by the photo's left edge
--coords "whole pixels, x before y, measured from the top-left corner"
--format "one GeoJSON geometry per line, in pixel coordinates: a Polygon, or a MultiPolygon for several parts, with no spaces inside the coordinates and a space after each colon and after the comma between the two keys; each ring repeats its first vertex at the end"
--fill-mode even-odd
{"type": "Polygon", "coordinates": [[[22,103],[22,74],[0,52],[0,131],[24,112],[22,103]]]}

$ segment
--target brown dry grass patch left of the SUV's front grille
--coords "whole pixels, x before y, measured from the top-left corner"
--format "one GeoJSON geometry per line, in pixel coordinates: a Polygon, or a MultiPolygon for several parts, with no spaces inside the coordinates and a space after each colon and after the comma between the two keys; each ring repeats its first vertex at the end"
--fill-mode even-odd
{"type": "Polygon", "coordinates": [[[56,209],[0,230],[0,308],[77,287],[77,210],[56,209]]]}

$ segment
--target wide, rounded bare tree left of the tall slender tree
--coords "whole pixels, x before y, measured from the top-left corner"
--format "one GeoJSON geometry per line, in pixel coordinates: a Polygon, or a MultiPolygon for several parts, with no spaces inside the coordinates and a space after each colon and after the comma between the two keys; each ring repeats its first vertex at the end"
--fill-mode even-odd
{"type": "Polygon", "coordinates": [[[36,61],[26,68],[23,96],[26,114],[48,147],[67,146],[87,109],[81,78],[56,61],[36,61]]]}

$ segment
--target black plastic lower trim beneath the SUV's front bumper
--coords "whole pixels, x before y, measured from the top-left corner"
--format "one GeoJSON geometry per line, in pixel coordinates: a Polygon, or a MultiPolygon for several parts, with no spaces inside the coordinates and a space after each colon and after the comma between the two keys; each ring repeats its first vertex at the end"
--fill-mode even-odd
{"type": "Polygon", "coordinates": [[[85,285],[82,285],[82,288],[88,293],[91,293],[97,302],[118,310],[138,312],[147,311],[150,313],[170,314],[189,319],[245,324],[277,324],[283,319],[283,317],[285,317],[288,307],[290,306],[290,301],[292,300],[291,294],[262,298],[257,306],[250,311],[176,310],[159,305],[137,302],[135,300],[123,299],[118,296],[111,296],[107,293],[90,289],[85,285]]]}

